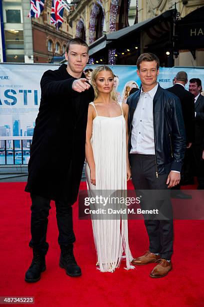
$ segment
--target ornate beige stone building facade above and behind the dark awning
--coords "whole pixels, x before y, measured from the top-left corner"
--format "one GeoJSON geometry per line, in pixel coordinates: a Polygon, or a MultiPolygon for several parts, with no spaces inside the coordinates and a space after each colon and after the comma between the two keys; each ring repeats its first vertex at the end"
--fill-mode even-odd
{"type": "MultiPolygon", "coordinates": [[[[72,37],[81,37],[90,45],[103,34],[110,34],[135,23],[155,18],[162,13],[176,9],[179,19],[204,6],[204,0],[82,0],[67,21],[72,27],[72,37]]],[[[171,25],[169,25],[170,27],[171,25]]],[[[157,29],[155,28],[155,31],[157,29]]],[[[140,53],[145,33],[140,39],[140,53]]],[[[188,49],[179,50],[174,57],[174,66],[204,66],[204,49],[196,49],[195,56],[188,49]]]]}

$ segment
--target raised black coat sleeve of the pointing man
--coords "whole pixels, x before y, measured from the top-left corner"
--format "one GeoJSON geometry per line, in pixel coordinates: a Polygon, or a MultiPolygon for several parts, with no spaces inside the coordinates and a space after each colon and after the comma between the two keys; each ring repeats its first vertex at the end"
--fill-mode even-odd
{"type": "Polygon", "coordinates": [[[78,92],[72,90],[72,83],[76,78],[69,78],[65,80],[56,80],[56,73],[52,70],[47,70],[43,74],[40,87],[41,93],[49,97],[58,98],[60,96],[68,95],[76,96],[78,92]]]}

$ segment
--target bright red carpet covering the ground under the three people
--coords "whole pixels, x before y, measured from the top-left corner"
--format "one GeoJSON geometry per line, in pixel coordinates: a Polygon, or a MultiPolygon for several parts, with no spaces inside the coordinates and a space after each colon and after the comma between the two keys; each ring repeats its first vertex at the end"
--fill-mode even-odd
{"type": "MultiPolygon", "coordinates": [[[[25,183],[0,183],[0,296],[34,296],[37,306],[203,306],[204,221],[174,221],[173,270],[164,278],[148,276],[153,264],[114,273],[95,269],[91,222],[78,220],[74,208],[75,256],[82,276],[71,278],[58,266],[59,247],[51,203],[46,271],[37,283],[24,282],[32,251],[28,247],[30,199],[25,183]]],[[[81,188],[84,188],[81,183],[81,188]]],[[[188,187],[189,188],[189,187],[188,187]]],[[[129,221],[133,256],[148,249],[143,221],[129,221]]]]}

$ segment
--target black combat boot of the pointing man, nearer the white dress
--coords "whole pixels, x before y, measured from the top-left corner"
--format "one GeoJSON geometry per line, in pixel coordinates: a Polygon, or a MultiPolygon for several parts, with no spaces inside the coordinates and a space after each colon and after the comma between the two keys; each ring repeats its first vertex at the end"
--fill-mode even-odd
{"type": "Polygon", "coordinates": [[[77,265],[76,260],[73,255],[73,244],[60,245],[61,254],[59,259],[59,266],[66,270],[66,274],[71,277],[76,277],[81,275],[81,269],[77,265]]]}

